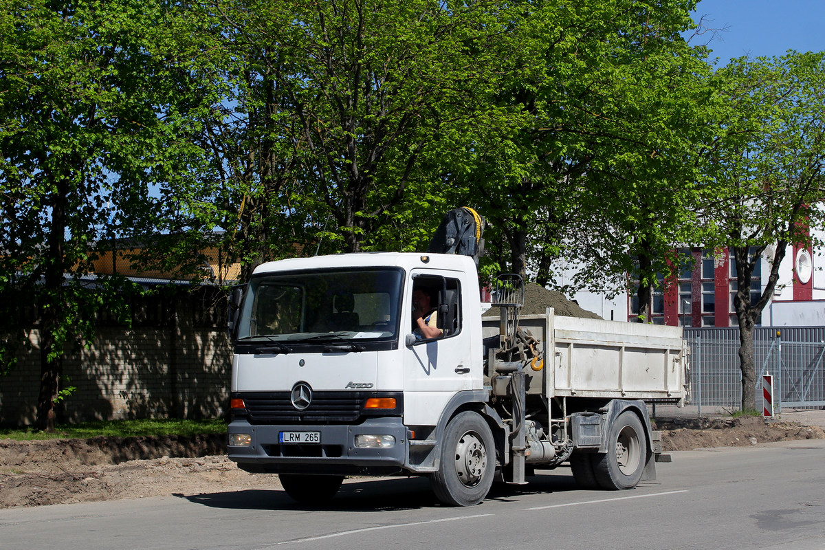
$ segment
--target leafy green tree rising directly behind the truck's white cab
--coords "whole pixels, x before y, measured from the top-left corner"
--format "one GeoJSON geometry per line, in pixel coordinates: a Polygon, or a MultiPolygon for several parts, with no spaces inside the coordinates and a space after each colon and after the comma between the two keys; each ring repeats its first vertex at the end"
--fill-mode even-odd
{"type": "Polygon", "coordinates": [[[299,56],[289,89],[313,153],[306,172],[316,209],[337,222],[346,251],[359,251],[399,205],[439,204],[470,127],[490,124],[505,4],[299,3],[281,41],[299,56]]]}

